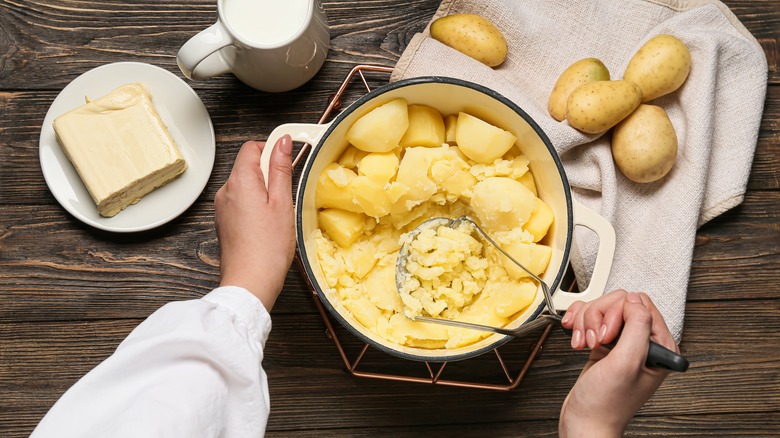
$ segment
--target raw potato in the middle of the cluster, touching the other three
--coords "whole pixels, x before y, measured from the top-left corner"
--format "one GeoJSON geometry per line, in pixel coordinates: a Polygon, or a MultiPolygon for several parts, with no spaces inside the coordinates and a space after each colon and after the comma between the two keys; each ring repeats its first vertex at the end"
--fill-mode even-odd
{"type": "Polygon", "coordinates": [[[600,134],[626,118],[641,102],[642,90],[633,82],[589,82],[569,95],[566,120],[582,132],[600,134]]]}

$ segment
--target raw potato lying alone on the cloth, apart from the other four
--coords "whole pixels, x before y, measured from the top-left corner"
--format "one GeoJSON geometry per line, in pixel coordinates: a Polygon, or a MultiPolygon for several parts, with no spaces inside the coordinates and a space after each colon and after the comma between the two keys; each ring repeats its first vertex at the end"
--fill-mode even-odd
{"type": "Polygon", "coordinates": [[[476,14],[453,14],[431,23],[431,37],[489,66],[506,59],[506,39],[490,21],[476,14]]]}

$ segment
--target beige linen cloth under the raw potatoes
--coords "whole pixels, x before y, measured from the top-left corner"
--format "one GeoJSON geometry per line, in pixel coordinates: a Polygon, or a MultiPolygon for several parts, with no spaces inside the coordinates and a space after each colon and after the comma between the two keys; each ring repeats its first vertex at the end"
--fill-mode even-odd
{"type": "MultiPolygon", "coordinates": [[[[433,17],[477,13],[506,36],[507,60],[491,69],[432,39],[415,35],[391,80],[450,76],[492,88],[523,108],[560,155],[574,197],[615,227],[617,248],[607,290],[645,291],[672,334],[682,335],[696,230],[742,202],[767,84],[767,61],[755,38],[714,0],[444,0],[433,17]],[[637,184],[615,167],[609,135],[557,122],[547,99],[573,62],[601,59],[613,79],[651,37],[667,33],[690,49],[692,68],[676,92],[650,103],[666,109],[677,132],[674,168],[637,184]]],[[[598,240],[577,227],[571,262],[590,278],[598,240]]]]}

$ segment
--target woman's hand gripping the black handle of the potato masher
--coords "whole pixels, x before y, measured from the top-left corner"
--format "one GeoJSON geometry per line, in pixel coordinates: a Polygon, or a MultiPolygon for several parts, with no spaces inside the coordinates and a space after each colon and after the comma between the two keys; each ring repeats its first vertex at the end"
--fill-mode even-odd
{"type": "Polygon", "coordinates": [[[574,303],[561,324],[572,330],[572,348],[588,347],[591,353],[563,402],[560,436],[623,436],[669,374],[645,367],[648,340],[679,353],[663,317],[646,294],[616,290],[574,303]],[[601,348],[618,335],[611,351],[601,348]]]}

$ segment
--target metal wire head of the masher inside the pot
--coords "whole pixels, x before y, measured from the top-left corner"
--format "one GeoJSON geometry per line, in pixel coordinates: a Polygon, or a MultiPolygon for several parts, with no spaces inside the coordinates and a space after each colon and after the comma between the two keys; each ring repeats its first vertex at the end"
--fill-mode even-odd
{"type": "MultiPolygon", "coordinates": [[[[488,243],[496,247],[501,254],[506,256],[509,260],[511,260],[514,264],[519,266],[522,270],[527,272],[531,278],[539,282],[539,285],[542,289],[542,293],[544,294],[544,302],[545,307],[547,307],[547,310],[549,311],[549,314],[542,314],[537,319],[533,321],[529,321],[520,327],[516,329],[505,329],[500,327],[492,327],[488,325],[483,324],[475,324],[471,322],[463,322],[463,321],[457,321],[452,319],[446,319],[446,318],[434,318],[429,316],[416,316],[411,319],[414,321],[422,321],[422,322],[430,322],[434,324],[442,324],[442,325],[448,325],[453,327],[461,327],[461,328],[469,328],[474,330],[482,330],[482,331],[488,331],[488,332],[494,332],[499,333],[503,335],[509,335],[509,336],[515,336],[519,337],[522,336],[528,332],[531,332],[541,326],[548,325],[555,321],[560,321],[561,316],[558,314],[558,312],[555,310],[555,306],[553,305],[552,300],[552,294],[550,293],[550,288],[547,286],[547,284],[542,281],[539,276],[531,272],[528,268],[523,266],[522,263],[515,260],[514,257],[509,255],[506,251],[504,251],[503,248],[501,248],[486,232],[483,230],[475,221],[474,219],[468,217],[468,216],[461,216],[457,219],[450,219],[446,217],[436,217],[432,219],[428,219],[427,221],[421,223],[418,225],[415,229],[409,232],[409,234],[406,237],[406,240],[404,244],[401,246],[401,250],[398,253],[398,260],[396,261],[395,265],[395,284],[396,288],[398,289],[398,292],[401,292],[401,289],[403,288],[404,284],[412,277],[412,274],[409,273],[409,270],[407,268],[407,265],[409,263],[409,255],[410,255],[410,246],[411,243],[417,238],[417,236],[420,234],[421,231],[427,230],[427,229],[433,229],[437,230],[439,227],[445,226],[449,228],[456,228],[458,225],[468,222],[470,223],[474,229],[479,233],[480,236],[484,240],[486,240],[488,243]]],[[[408,315],[407,315],[408,316],[408,315]]]]}

